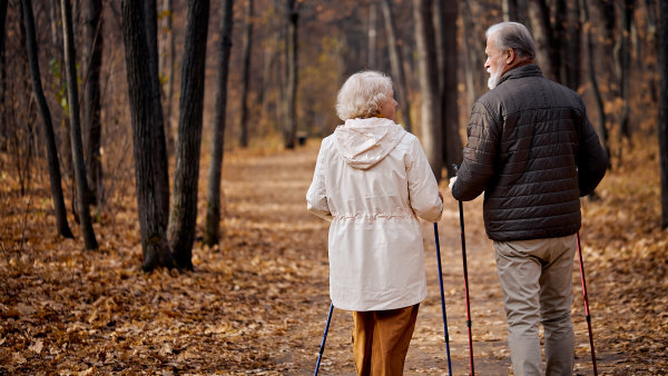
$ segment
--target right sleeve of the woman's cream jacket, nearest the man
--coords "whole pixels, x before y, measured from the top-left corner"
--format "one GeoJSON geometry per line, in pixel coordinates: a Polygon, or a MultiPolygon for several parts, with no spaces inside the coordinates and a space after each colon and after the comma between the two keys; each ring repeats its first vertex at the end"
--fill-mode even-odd
{"type": "Polygon", "coordinates": [[[406,176],[413,211],[424,220],[439,221],[443,214],[443,201],[439,197],[439,184],[418,138],[413,138],[411,142],[406,160],[406,176]]]}

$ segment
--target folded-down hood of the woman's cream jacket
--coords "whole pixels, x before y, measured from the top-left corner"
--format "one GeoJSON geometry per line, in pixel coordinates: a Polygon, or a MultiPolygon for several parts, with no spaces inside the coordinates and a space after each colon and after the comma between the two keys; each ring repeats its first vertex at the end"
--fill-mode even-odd
{"type": "Polygon", "coordinates": [[[365,170],[383,160],[405,135],[403,127],[390,119],[348,119],[336,127],[334,145],[346,164],[365,170]]]}

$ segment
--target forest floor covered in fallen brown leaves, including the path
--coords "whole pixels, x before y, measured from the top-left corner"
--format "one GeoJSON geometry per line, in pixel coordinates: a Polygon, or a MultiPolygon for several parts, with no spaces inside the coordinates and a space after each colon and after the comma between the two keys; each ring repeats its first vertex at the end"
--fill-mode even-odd
{"type": "MultiPolygon", "coordinates": [[[[48,177],[20,195],[0,184],[0,374],[308,374],[327,314],[327,222],[306,212],[318,142],[225,156],[224,239],[194,249],[195,271],[140,269],[131,189],[95,225],[100,248],[55,235],[48,177]]],[[[657,147],[636,148],[584,199],[581,230],[601,374],[668,373],[668,232],[660,230],[657,147]]],[[[3,166],[7,166],[4,164],[3,166]]],[[[202,171],[207,171],[206,162],[202,171]]],[[[199,214],[204,217],[203,172],[199,214]]],[[[128,185],[132,186],[131,181],[128,185]]],[[[458,206],[440,221],[453,372],[469,374],[458,206]]],[[[475,373],[509,374],[501,290],[481,199],[466,202],[475,373]]],[[[202,232],[200,222],[198,231],[202,232]]],[[[446,374],[433,232],[424,224],[429,297],[406,374],[446,374]]],[[[578,374],[592,374],[577,261],[578,374]]],[[[334,310],[322,374],[354,374],[352,317],[334,310]]]]}

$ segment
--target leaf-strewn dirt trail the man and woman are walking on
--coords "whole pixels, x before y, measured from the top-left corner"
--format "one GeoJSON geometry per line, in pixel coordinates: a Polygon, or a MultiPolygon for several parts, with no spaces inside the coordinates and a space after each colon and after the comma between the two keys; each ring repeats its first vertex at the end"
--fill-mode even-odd
{"type": "MultiPolygon", "coordinates": [[[[283,289],[283,298],[294,303],[292,308],[286,308],[292,309],[285,314],[288,324],[281,337],[265,338],[267,342],[274,342],[276,346],[276,352],[268,355],[268,360],[288,374],[313,372],[330,304],[326,254],[328,225],[310,215],[305,205],[305,192],[311,182],[317,148],[318,142],[311,142],[293,152],[266,157],[237,157],[226,160],[225,166],[229,218],[225,224],[226,229],[232,232],[271,232],[277,244],[272,246],[274,250],[266,257],[299,260],[301,271],[297,270],[297,275],[305,276],[303,280],[307,280],[308,284],[306,287],[295,284],[283,289]],[[276,226],[281,230],[276,231],[276,226]]],[[[439,227],[452,367],[455,375],[465,375],[470,373],[470,368],[459,209],[445,182],[441,190],[446,198],[439,227]]],[[[507,325],[493,249],[482,225],[481,206],[481,198],[464,204],[475,373],[505,375],[511,373],[507,325]]],[[[407,375],[448,373],[432,224],[423,224],[423,236],[429,296],[420,307],[405,365],[407,375]]],[[[573,280],[574,286],[578,286],[577,270],[573,280]]],[[[574,293],[576,296],[580,294],[579,290],[574,293]]],[[[576,370],[577,374],[591,374],[587,325],[581,318],[581,307],[576,304],[572,309],[576,326],[576,370]]],[[[351,328],[351,314],[335,309],[321,374],[354,374],[350,346],[351,328]]],[[[599,372],[605,372],[608,369],[608,356],[605,349],[598,350],[601,359],[599,372]]]]}

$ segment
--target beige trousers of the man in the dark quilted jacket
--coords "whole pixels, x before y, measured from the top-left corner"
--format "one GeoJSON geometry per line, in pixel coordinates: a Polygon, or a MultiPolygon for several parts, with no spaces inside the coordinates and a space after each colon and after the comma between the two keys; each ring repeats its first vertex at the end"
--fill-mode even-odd
{"type": "Polygon", "coordinates": [[[539,321],[544,332],[546,375],[572,375],[570,306],[576,241],[576,235],[494,241],[515,375],[542,375],[539,321]]]}

